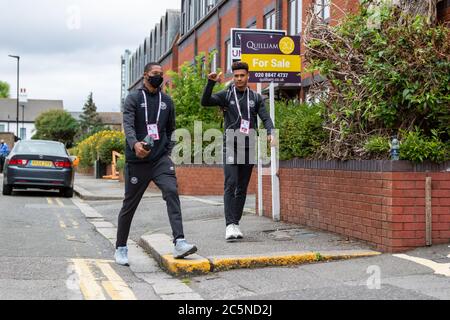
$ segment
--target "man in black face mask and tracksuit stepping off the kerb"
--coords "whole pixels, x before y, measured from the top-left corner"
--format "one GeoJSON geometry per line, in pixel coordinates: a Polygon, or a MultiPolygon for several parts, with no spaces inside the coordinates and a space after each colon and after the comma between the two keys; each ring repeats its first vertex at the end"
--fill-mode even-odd
{"type": "Polygon", "coordinates": [[[125,199],[119,214],[115,253],[120,265],[128,265],[127,240],[131,222],[151,181],[162,191],[167,204],[175,245],[174,258],[182,259],[197,251],[184,239],[175,165],[169,157],[174,147],[171,138],[175,131],[175,106],[161,91],[163,81],[162,67],[149,63],[144,70],[144,86],[130,93],[125,100],[125,199]]]}

